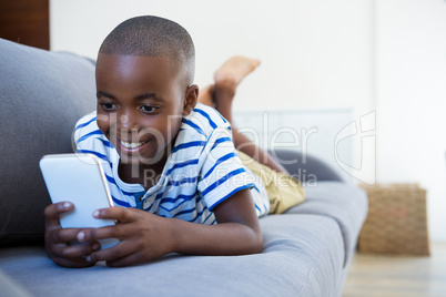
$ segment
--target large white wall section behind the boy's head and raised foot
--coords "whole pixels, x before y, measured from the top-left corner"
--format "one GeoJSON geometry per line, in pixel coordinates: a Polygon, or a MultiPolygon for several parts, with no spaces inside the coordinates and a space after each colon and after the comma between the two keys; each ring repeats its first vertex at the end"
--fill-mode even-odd
{"type": "Polygon", "coordinates": [[[229,57],[263,61],[236,107],[373,109],[372,0],[52,0],[51,49],[91,58],[121,21],[156,14],[181,23],[196,48],[196,81],[212,82],[229,57]]]}

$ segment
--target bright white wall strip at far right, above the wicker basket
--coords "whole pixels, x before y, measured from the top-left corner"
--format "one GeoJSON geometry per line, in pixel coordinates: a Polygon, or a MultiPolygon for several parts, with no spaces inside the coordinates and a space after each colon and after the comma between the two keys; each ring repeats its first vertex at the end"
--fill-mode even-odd
{"type": "Polygon", "coordinates": [[[428,191],[446,242],[446,1],[377,0],[377,177],[428,191]]]}

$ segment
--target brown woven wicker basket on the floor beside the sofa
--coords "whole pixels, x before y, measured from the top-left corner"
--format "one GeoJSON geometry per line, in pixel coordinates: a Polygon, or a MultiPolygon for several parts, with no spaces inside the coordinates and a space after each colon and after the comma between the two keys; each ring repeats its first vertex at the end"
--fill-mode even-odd
{"type": "Polygon", "coordinates": [[[359,234],[359,252],[430,254],[425,190],[417,184],[362,187],[368,195],[368,216],[359,234]]]}

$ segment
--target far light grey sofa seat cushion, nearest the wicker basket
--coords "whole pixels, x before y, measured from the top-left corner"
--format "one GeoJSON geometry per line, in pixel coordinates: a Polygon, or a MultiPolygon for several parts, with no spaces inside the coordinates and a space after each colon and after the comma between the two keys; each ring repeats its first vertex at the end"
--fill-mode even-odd
{"type": "Polygon", "coordinates": [[[361,226],[367,216],[367,195],[364,190],[346,183],[318,182],[305,187],[305,201],[286,214],[314,214],[332,217],[341,227],[345,260],[354,253],[361,226]]]}

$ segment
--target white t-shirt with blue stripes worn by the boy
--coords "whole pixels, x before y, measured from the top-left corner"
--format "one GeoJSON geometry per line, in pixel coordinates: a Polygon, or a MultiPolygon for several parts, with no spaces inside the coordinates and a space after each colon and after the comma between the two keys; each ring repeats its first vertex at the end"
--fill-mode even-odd
{"type": "Polygon", "coordinates": [[[232,142],[231,125],[214,109],[199,103],[183,117],[163,173],[148,191],[143,185],[121,181],[120,156],[95,120],[95,112],[92,112],[78,121],[77,153],[92,153],[104,161],[102,166],[115,206],[215,224],[212,209],[234,193],[250,188],[257,216],[268,213],[270,202],[262,182],[241,164],[232,142]]]}

